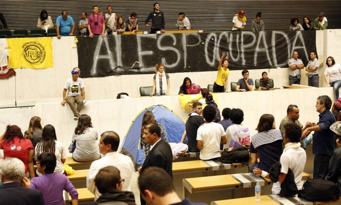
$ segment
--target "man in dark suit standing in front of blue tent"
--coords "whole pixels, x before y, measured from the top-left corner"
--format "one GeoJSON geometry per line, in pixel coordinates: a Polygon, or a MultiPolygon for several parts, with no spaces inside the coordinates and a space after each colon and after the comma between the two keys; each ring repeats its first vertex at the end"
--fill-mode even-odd
{"type": "MultiPolygon", "coordinates": [[[[145,143],[150,144],[150,151],[142,166],[138,171],[143,171],[150,166],[157,166],[164,169],[169,176],[173,179],[172,173],[172,149],[168,143],[160,138],[160,127],[157,123],[147,124],[143,127],[143,140],[145,143]]],[[[141,205],[145,205],[145,201],[141,199],[141,205]]]]}

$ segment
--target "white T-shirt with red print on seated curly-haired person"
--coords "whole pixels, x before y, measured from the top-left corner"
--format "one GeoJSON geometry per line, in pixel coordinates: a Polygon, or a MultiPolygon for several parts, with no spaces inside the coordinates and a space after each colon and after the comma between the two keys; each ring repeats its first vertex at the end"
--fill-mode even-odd
{"type": "Polygon", "coordinates": [[[250,144],[249,127],[243,124],[232,124],[226,129],[227,143],[224,144],[224,149],[229,147],[250,144]]]}

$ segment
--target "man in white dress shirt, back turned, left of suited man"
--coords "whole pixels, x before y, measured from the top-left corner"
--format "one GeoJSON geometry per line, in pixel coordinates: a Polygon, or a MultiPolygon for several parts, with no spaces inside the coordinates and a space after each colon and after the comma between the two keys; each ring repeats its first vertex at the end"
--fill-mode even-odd
{"type": "Polygon", "coordinates": [[[99,160],[94,161],[86,177],[86,187],[95,194],[95,201],[100,197],[99,189],[95,186],[94,179],[100,168],[115,166],[120,170],[120,176],[125,180],[122,184],[123,191],[130,191],[130,179],[133,174],[134,164],[130,157],[118,152],[120,137],[114,131],[106,131],[100,135],[100,153],[103,155],[99,160]]]}

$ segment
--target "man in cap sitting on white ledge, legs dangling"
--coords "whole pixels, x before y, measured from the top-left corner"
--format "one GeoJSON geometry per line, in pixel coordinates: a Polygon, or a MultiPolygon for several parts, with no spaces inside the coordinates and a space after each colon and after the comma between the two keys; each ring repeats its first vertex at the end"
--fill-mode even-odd
{"type": "Polygon", "coordinates": [[[86,103],[84,82],[80,78],[80,69],[78,67],[72,69],[71,74],[72,78],[68,79],[64,85],[63,101],[61,102],[61,105],[64,106],[67,102],[74,113],[74,120],[77,121],[80,116],[80,110],[83,107],[83,104],[86,103]],[[67,97],[66,92],[68,93],[67,97]],[[77,106],[75,105],[75,102],[77,103],[77,106]]]}

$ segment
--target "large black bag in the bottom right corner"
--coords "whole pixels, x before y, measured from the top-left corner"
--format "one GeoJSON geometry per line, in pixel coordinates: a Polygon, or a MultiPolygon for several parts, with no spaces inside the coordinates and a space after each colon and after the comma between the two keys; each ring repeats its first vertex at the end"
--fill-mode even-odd
{"type": "Polygon", "coordinates": [[[315,202],[338,200],[340,190],[337,184],[329,180],[308,179],[303,184],[299,197],[315,202]]]}

